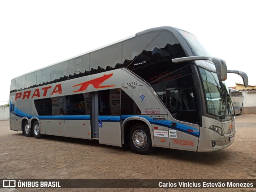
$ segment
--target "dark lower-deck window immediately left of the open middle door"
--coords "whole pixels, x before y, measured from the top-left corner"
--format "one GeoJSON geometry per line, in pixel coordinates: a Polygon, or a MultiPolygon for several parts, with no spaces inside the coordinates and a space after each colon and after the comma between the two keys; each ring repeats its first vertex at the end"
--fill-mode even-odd
{"type": "Polygon", "coordinates": [[[70,95],[70,115],[90,115],[90,94],[70,95]]]}

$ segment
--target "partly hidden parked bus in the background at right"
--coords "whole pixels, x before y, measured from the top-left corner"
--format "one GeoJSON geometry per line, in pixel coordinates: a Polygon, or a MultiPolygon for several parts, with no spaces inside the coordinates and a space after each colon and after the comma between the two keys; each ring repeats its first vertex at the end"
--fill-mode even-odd
{"type": "Polygon", "coordinates": [[[241,115],[244,108],[244,97],[242,91],[228,88],[228,92],[230,94],[230,98],[234,107],[234,114],[241,115]]]}

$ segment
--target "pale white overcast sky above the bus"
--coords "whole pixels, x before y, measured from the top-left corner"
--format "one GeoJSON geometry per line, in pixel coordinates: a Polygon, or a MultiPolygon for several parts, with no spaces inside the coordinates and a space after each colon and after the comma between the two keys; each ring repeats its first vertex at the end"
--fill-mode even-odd
{"type": "MultiPolygon", "coordinates": [[[[194,34],[256,85],[255,19],[251,0],[0,1],[0,105],[14,77],[159,26],[194,34]]],[[[240,76],[228,74],[226,85],[236,82],[240,76]]]]}

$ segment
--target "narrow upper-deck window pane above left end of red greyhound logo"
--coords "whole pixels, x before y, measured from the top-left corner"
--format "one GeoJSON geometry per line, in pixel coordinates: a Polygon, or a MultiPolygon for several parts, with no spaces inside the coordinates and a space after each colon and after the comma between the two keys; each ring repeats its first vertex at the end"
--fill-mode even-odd
{"type": "Polygon", "coordinates": [[[89,74],[90,54],[68,60],[68,78],[77,78],[89,74]]]}

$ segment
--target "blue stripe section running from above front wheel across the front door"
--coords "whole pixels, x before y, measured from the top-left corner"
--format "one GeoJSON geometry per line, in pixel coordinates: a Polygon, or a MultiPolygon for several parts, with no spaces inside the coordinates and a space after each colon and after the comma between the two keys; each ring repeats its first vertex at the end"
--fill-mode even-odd
{"type": "MultiPolygon", "coordinates": [[[[148,116],[143,116],[143,115],[136,115],[136,116],[145,118],[146,120],[148,120],[150,122],[150,124],[155,124],[155,125],[158,125],[158,126],[169,127],[169,128],[174,129],[174,130],[178,130],[178,131],[181,131],[181,132],[184,132],[186,134],[190,134],[192,136],[196,136],[196,137],[199,138],[199,130],[194,128],[194,127],[191,127],[191,126],[188,126],[188,125],[184,125],[184,124],[181,124],[181,123],[177,123],[177,122],[175,122],[177,124],[176,127],[171,127],[170,125],[171,125],[171,123],[173,123],[172,121],[168,122],[168,120],[162,120],[162,121],[153,120],[153,118],[148,117],[148,116]],[[188,130],[195,130],[197,132],[192,132],[192,131],[188,131],[188,130]]],[[[134,117],[134,115],[122,115],[121,119],[123,121],[123,120],[125,120],[126,118],[129,118],[129,117],[134,117]]]]}

